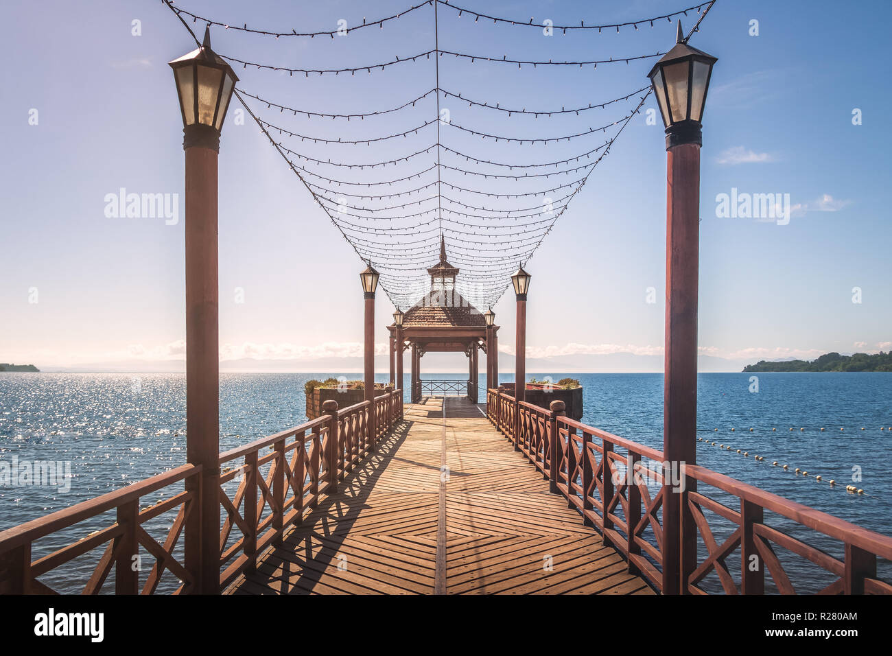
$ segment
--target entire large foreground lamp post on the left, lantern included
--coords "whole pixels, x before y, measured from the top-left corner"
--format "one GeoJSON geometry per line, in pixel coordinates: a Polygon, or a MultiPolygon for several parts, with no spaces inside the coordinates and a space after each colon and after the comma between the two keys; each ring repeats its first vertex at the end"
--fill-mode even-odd
{"type": "MultiPolygon", "coordinates": [[[[202,466],[201,499],[186,520],[186,569],[195,591],[219,594],[219,299],[217,156],[238,78],[202,46],[173,62],[186,151],[186,460],[202,466]]],[[[200,493],[200,494],[199,494],[200,493]]]]}

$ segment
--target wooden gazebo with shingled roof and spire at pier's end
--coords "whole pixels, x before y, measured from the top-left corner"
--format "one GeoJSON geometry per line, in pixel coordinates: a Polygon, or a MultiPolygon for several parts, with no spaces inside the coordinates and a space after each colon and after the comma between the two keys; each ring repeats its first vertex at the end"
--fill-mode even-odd
{"type": "Polygon", "coordinates": [[[481,312],[469,303],[456,288],[458,267],[446,260],[446,242],[440,237],[440,262],[427,270],[431,288],[401,318],[387,327],[390,330],[391,381],[402,383],[402,353],[412,353],[411,400],[421,400],[421,358],[425,353],[465,353],[467,355],[467,398],[477,403],[478,351],[486,353],[486,384],[497,385],[498,326],[488,325],[495,315],[481,312]],[[394,364],[396,373],[394,375],[394,364]]]}

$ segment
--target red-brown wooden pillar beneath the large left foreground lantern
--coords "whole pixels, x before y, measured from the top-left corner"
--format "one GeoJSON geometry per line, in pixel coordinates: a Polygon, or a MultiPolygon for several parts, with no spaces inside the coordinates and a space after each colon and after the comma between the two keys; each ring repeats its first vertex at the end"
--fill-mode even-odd
{"type": "MultiPolygon", "coordinates": [[[[219,138],[186,150],[186,461],[202,465],[200,507],[186,521],[186,569],[195,592],[219,594],[219,281],[217,155],[219,138]]],[[[198,477],[195,477],[198,478],[198,477]]],[[[195,478],[191,485],[196,486],[195,478]]]]}

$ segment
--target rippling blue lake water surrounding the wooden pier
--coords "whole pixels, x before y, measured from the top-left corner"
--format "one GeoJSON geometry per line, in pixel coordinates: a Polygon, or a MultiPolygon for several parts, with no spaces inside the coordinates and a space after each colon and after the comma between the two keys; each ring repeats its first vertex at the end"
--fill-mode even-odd
{"type": "MultiPolygon", "coordinates": [[[[304,382],[329,375],[221,375],[220,450],[305,421],[304,382]]],[[[584,386],[584,423],[662,447],[662,374],[569,376],[584,386]]],[[[892,535],[892,374],[762,373],[757,393],[750,376],[700,374],[698,436],[751,455],[699,442],[698,464],[892,535]],[[847,494],[847,485],[867,494],[847,494]]],[[[180,374],[0,373],[0,461],[70,461],[71,474],[68,491],[0,486],[0,530],[183,464],[185,433],[180,374]]]]}

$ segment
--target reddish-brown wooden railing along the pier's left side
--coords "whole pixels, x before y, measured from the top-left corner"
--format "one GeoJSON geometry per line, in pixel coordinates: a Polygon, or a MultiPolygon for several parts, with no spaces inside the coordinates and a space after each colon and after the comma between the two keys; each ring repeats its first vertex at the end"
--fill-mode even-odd
{"type": "MultiPolygon", "coordinates": [[[[371,406],[364,401],[339,410],[334,401],[326,402],[324,416],[220,454],[222,523],[219,535],[210,538],[219,540],[221,588],[254,569],[258,555],[282,541],[285,527],[300,523],[324,495],[337,490],[346,472],[368,456],[376,441],[368,434],[370,411],[377,413],[377,437],[401,421],[402,390],[378,396],[371,406]],[[235,491],[227,493],[234,482],[235,491]]],[[[197,573],[186,568],[180,538],[186,523],[195,519],[201,483],[202,468],[186,464],[3,531],[0,594],[54,594],[58,591],[52,585],[74,582],[84,594],[99,594],[112,569],[116,594],[153,594],[165,572],[171,574],[166,590],[193,592],[197,573]],[[183,489],[169,491],[172,486],[183,489]],[[141,500],[161,491],[172,496],[140,509],[141,500]],[[163,536],[156,540],[150,533],[159,527],[163,536]],[[72,532],[87,535],[70,542],[72,532]],[[32,560],[34,545],[41,539],[54,546],[70,544],[32,560]],[[140,547],[153,561],[150,568],[142,564],[140,547]],[[98,562],[85,568],[83,559],[99,548],[103,552],[98,562]],[[81,561],[76,571],[62,567],[77,559],[81,561]],[[53,578],[58,584],[38,577],[53,578]]]]}

